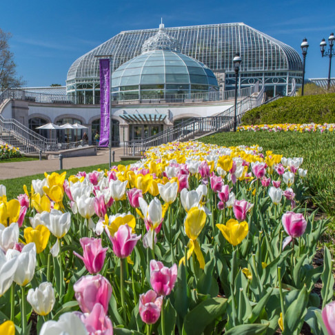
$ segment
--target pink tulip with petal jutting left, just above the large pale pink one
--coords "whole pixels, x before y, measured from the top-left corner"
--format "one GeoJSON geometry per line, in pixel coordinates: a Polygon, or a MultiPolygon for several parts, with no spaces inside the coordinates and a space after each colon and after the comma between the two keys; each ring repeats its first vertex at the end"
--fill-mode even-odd
{"type": "Polygon", "coordinates": [[[81,238],[80,244],[83,248],[83,256],[77,254],[77,252],[73,252],[73,254],[83,261],[86,270],[88,270],[90,274],[97,274],[103,267],[108,247],[103,248],[101,245],[101,239],[93,237],[81,238]]]}

